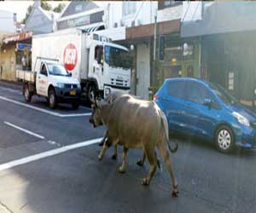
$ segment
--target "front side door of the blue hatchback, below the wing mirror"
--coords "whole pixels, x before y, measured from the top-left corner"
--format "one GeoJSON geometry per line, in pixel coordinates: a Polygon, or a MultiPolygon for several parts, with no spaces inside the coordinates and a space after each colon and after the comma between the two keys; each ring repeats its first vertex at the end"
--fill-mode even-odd
{"type": "Polygon", "coordinates": [[[216,124],[218,124],[218,114],[220,107],[210,89],[200,82],[188,82],[186,91],[186,120],[189,131],[192,135],[212,137],[216,124]],[[206,104],[206,100],[211,100],[211,106],[206,104]]]}

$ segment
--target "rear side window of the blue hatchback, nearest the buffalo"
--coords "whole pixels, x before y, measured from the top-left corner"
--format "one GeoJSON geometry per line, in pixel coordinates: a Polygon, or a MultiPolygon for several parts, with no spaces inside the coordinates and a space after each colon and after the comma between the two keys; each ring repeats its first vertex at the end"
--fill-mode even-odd
{"type": "Polygon", "coordinates": [[[168,95],[184,99],[185,98],[185,81],[171,81],[168,83],[168,95]]]}

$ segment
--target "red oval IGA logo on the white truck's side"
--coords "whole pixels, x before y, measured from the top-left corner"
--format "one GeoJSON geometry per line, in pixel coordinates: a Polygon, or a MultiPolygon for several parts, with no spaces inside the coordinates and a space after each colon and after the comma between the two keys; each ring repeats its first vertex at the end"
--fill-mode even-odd
{"type": "Polygon", "coordinates": [[[63,55],[64,65],[68,71],[72,71],[78,62],[78,52],[73,43],[68,43],[64,49],[63,55]]]}

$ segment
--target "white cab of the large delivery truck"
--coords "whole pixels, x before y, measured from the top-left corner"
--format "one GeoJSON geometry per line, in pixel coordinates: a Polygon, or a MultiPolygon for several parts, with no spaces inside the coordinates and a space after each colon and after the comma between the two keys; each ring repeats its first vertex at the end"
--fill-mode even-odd
{"type": "Polygon", "coordinates": [[[108,41],[92,40],[89,53],[90,84],[86,89],[89,101],[95,96],[104,98],[117,90],[130,92],[131,55],[128,49],[108,41]]]}

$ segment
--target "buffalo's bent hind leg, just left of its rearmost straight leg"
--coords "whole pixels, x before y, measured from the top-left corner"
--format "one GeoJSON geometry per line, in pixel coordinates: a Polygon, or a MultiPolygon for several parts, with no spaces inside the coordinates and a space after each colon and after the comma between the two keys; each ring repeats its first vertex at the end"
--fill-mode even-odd
{"type": "Polygon", "coordinates": [[[148,158],[148,162],[150,164],[150,170],[148,172],[148,176],[143,178],[143,181],[142,181],[142,184],[147,186],[150,183],[151,178],[154,176],[154,172],[157,167],[157,158],[154,153],[154,147],[145,147],[144,152],[145,152],[145,154],[148,158]]]}

